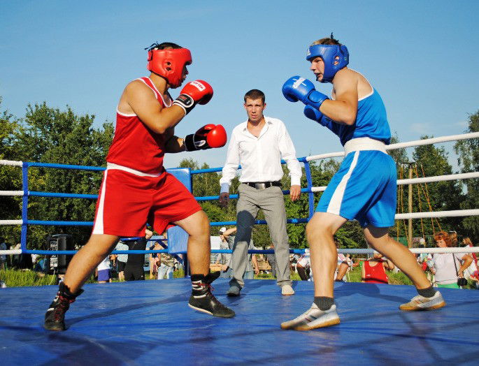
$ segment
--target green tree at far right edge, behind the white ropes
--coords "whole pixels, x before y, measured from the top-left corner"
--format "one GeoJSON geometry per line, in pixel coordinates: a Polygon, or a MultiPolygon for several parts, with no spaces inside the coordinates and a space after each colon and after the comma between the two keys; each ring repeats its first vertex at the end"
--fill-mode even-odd
{"type": "MultiPolygon", "coordinates": [[[[465,132],[479,132],[479,110],[469,115],[468,128],[465,132]]],[[[479,139],[460,140],[454,146],[456,154],[459,155],[458,163],[461,167],[461,173],[470,173],[479,171],[479,139]]],[[[479,180],[464,180],[466,195],[460,203],[462,210],[477,209],[479,207],[479,180]]],[[[460,233],[464,236],[470,236],[473,242],[479,240],[479,217],[471,216],[462,219],[460,233]]]]}

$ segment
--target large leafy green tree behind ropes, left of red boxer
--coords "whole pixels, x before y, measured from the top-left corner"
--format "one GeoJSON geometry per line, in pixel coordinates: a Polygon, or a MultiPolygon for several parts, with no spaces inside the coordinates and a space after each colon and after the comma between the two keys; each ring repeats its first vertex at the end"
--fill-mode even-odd
{"type": "MultiPolygon", "coordinates": [[[[21,161],[104,166],[113,139],[113,124],[92,127],[94,115],[76,115],[46,103],[29,105],[22,128],[13,133],[15,151],[11,159],[21,161]]],[[[29,168],[29,191],[96,194],[101,173],[87,170],[29,168]]],[[[93,221],[95,200],[29,197],[28,218],[48,221],[93,221]]],[[[90,236],[89,226],[29,226],[28,247],[43,248],[45,236],[69,233],[76,244],[90,236]]]]}

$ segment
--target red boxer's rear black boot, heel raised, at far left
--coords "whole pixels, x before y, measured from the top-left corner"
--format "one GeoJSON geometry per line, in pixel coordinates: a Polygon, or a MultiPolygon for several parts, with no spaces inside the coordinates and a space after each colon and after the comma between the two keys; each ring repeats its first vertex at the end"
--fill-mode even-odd
{"type": "Polygon", "coordinates": [[[50,307],[45,313],[45,324],[43,328],[46,330],[65,330],[65,313],[69,309],[70,304],[75,301],[83,290],[80,288],[76,293],[71,293],[70,289],[60,282],[58,286],[57,296],[53,299],[50,307]]]}

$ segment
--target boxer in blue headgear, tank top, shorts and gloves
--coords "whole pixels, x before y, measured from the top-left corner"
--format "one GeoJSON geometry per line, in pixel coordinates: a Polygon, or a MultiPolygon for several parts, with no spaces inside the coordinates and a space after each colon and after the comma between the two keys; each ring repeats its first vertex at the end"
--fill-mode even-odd
{"type": "Polygon", "coordinates": [[[443,307],[441,293],[432,288],[415,256],[388,235],[396,210],[396,166],[385,149],[391,133],[383,100],[363,75],[346,67],[348,48],[332,34],[310,45],[306,59],[318,82],[333,85],[331,98],[299,76],[285,82],[283,95],[288,101],[303,102],[306,117],[340,138],[345,159],[306,226],[315,278],[313,305],[296,319],[282,323],[281,328],[311,330],[339,323],[333,297],[337,264],[333,235],[352,219],[364,228],[369,245],[389,258],[417,288],[418,295],[399,309],[443,307]]]}

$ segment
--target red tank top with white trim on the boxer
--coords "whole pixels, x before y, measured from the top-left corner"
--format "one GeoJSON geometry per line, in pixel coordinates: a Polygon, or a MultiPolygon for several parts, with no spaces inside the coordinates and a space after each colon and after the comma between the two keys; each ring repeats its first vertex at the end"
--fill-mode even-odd
{"type": "MultiPolygon", "coordinates": [[[[136,80],[148,85],[162,107],[166,106],[162,94],[149,78],[136,80]]],[[[125,115],[117,110],[115,137],[108,150],[106,161],[143,173],[159,174],[164,172],[163,156],[163,135],[151,131],[137,115],[125,115]]]]}

